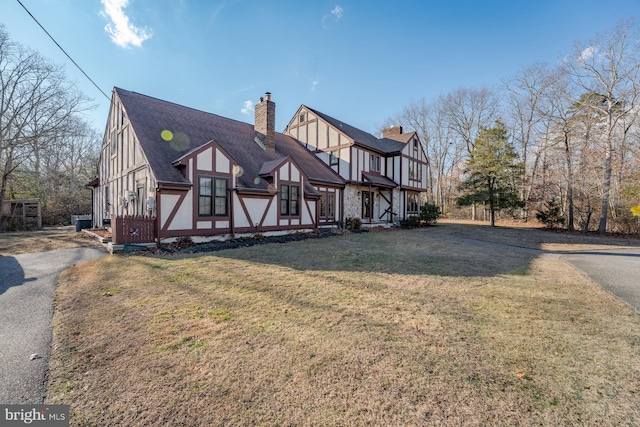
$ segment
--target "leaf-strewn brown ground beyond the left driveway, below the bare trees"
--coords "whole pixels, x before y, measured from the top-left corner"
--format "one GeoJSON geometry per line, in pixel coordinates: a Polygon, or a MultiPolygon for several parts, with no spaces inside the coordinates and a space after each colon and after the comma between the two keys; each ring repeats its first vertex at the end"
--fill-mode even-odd
{"type": "Polygon", "coordinates": [[[94,245],[96,242],[74,228],[55,228],[19,233],[0,233],[0,255],[45,252],[94,245]]]}

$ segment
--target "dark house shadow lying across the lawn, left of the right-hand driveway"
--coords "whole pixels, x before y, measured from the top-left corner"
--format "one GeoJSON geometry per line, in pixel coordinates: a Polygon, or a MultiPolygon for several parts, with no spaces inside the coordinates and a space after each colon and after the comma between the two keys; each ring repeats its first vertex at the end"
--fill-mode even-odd
{"type": "Polygon", "coordinates": [[[211,255],[304,271],[492,277],[526,274],[541,253],[422,230],[392,230],[256,245],[211,255]]]}

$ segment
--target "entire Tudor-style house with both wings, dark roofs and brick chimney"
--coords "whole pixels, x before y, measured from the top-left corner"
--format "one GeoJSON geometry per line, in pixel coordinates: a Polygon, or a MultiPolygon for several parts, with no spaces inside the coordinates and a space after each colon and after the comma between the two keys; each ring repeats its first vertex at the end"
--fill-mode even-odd
{"type": "Polygon", "coordinates": [[[147,215],[159,241],[204,241],[394,222],[417,213],[425,164],[414,133],[378,139],[304,106],[278,133],[268,92],[251,125],[114,88],[93,226],[147,215]]]}

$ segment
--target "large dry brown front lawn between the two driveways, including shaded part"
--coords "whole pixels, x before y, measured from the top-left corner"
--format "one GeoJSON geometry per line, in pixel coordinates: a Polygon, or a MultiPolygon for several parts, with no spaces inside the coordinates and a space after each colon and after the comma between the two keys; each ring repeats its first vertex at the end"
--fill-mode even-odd
{"type": "Polygon", "coordinates": [[[72,425],[638,425],[639,317],[447,227],[75,266],[47,401],[72,425]]]}

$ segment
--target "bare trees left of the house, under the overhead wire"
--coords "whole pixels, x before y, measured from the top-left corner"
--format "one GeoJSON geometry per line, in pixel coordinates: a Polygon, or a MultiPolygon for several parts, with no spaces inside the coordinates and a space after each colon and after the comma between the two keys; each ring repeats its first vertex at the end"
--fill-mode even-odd
{"type": "MultiPolygon", "coordinates": [[[[62,67],[12,41],[0,24],[0,206],[38,198],[43,224],[91,213],[100,136],[83,118],[90,100],[62,67]]],[[[0,231],[20,227],[11,215],[0,231]]]]}

